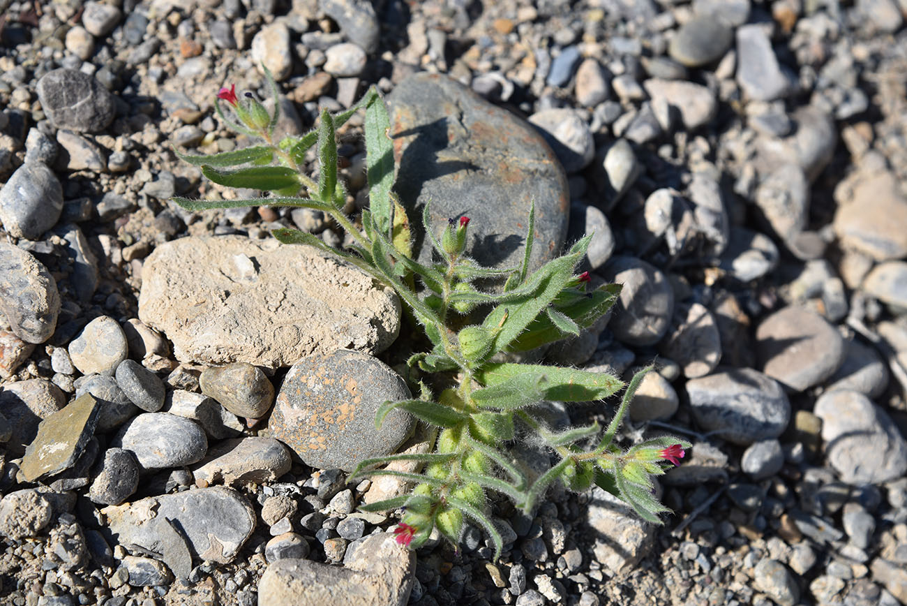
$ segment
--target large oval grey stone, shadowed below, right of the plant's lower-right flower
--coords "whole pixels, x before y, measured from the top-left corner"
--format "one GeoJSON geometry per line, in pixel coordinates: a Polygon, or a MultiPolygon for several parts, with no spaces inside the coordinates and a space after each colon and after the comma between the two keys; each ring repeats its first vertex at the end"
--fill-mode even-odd
{"type": "Polygon", "coordinates": [[[752,368],[732,368],[687,382],[690,412],[706,431],[738,445],[784,432],[791,408],[784,389],[752,368]]]}

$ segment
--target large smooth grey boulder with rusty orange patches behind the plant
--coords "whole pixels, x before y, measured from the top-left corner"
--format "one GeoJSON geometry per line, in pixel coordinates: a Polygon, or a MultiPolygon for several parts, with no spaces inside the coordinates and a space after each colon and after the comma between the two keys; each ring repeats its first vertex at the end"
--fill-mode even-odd
{"type": "MultiPolygon", "coordinates": [[[[409,76],[387,103],[399,167],[396,189],[411,226],[421,223],[418,215],[431,200],[435,230],[451,217],[468,216],[467,251],[473,259],[518,267],[535,200],[531,267],[560,254],[570,210],[567,180],[531,125],[440,74],[409,76]]],[[[422,234],[415,251],[420,262],[431,261],[431,245],[422,234]]]]}

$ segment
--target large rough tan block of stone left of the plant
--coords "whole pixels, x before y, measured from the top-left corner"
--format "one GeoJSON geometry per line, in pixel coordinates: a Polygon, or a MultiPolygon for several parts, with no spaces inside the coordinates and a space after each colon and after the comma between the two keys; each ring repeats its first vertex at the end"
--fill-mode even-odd
{"type": "Polygon", "coordinates": [[[400,304],[389,288],[306,246],[189,237],[145,259],[139,318],[171,339],[180,361],[273,368],[339,347],[383,351],[399,330],[400,304]]]}

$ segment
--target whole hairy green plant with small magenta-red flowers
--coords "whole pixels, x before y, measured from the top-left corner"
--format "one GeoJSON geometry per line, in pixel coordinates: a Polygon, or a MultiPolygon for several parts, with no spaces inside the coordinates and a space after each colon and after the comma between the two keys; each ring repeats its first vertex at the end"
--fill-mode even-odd
{"type": "Polygon", "coordinates": [[[484,268],[466,254],[470,220],[449,220],[437,233],[426,204],[423,228],[436,260],[418,262],[411,249],[405,210],[392,191],[395,162],[390,124],[375,88],[346,112],[321,112],[316,130],[275,142],[278,89],[265,71],[275,98],[273,112],[267,112],[251,93],[237,97],[234,87],[221,89],[215,102],[221,120],[263,140],[262,144],[207,156],[177,155],[200,166],[210,181],[271,191],[272,196],[174,201],[188,210],[267,205],[323,211],[351,236],[353,243],[347,249],[332,249],[299,230],[278,229],[273,234],[281,242],[307,244],[345,259],[394,288],[423,328],[431,348],[410,357],[408,366],[428,380],[419,381],[418,398],[380,406],[375,425],[380,427],[390,411],[403,410],[437,429],[434,452],[362,461],[351,480],[363,475],[394,475],[415,486],[412,494],[361,509],[405,510],[395,533],[398,542],[411,548],[426,542],[434,528],[456,544],[464,519],[469,519],[490,537],[495,559],[500,555],[502,539],[489,517],[489,491],[510,498],[524,512],[532,513],[551,484],[560,482],[570,490],[584,491],[594,483],[619,495],[645,520],[660,523],[658,514],[668,509],[653,495],[651,478],[664,474],[666,463],[679,464],[690,445],[675,437],[657,437],[626,449],[615,443],[629,402],[650,367],[625,386],[617,377],[604,373],[503,361],[510,359],[508,354],[579,335],[614,304],[619,286],[587,291],[588,273],[574,274],[590,236],[573,244],[562,257],[531,271],[533,208],[520,267],[484,268]],[[239,122],[227,118],[220,101],[233,108],[239,122]],[[335,136],[336,129],[362,109],[369,209],[362,211],[356,223],[344,211],[346,190],[337,179],[335,136]],[[317,180],[304,172],[305,155],[312,147],[317,149],[317,180]],[[306,197],[298,197],[300,191],[305,191],[306,197]],[[489,291],[477,286],[490,279],[497,280],[502,288],[489,291]],[[429,385],[439,388],[440,393],[435,396],[429,385]],[[554,431],[546,425],[538,406],[551,400],[600,401],[621,388],[622,400],[607,427],[596,422],[554,431]],[[557,455],[558,463],[541,475],[530,475],[510,454],[508,445],[517,441],[541,442],[557,455]],[[394,461],[421,464],[423,472],[377,468],[394,461]]]}

